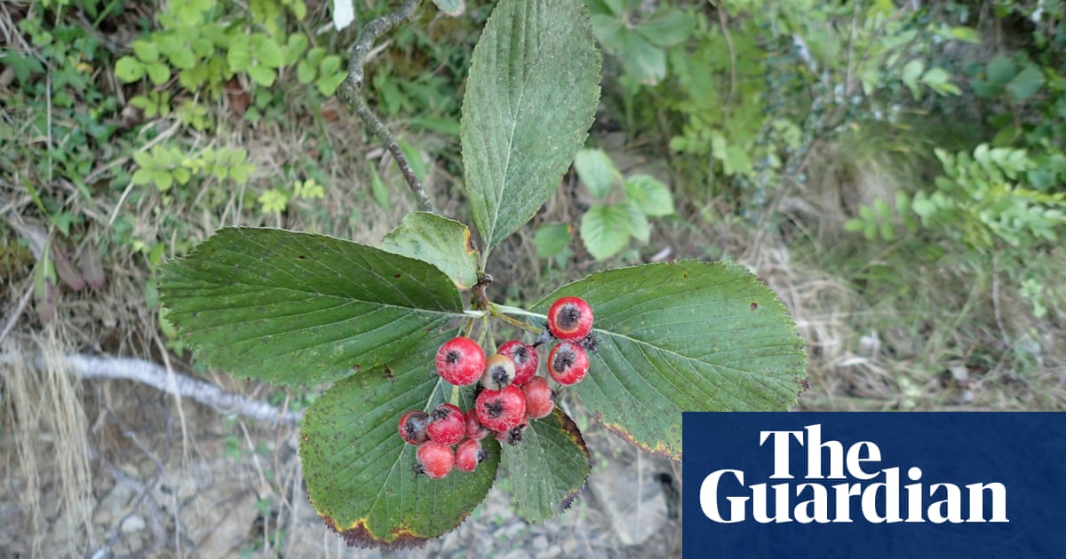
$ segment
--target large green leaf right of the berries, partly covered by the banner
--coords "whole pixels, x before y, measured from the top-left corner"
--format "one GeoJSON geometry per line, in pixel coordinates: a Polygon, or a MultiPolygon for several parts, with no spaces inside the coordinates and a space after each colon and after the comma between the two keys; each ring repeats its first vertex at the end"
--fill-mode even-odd
{"type": "Polygon", "coordinates": [[[533,307],[583,297],[599,349],[569,388],[608,429],[681,459],[682,411],[784,411],[806,355],[785,306],[741,266],[681,261],[600,272],[533,307]]]}

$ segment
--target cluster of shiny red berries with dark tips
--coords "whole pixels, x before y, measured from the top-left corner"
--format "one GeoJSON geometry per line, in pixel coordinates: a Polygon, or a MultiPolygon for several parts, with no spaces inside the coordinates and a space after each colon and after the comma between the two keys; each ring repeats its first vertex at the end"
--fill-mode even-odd
{"type": "MultiPolygon", "coordinates": [[[[548,354],[548,375],[563,385],[580,381],[588,372],[585,350],[596,348],[592,309],[584,299],[563,297],[549,309],[547,326],[542,341],[559,340],[548,354]]],[[[488,358],[469,338],[445,342],[437,350],[437,373],[456,387],[478,384],[474,407],[464,412],[440,404],[431,413],[411,410],[403,415],[400,437],[418,446],[415,471],[431,479],[453,468],[473,472],[487,457],[481,440],[489,433],[512,445],[521,441],[530,420],[546,417],[555,408],[556,393],[537,376],[538,364],[536,347],[518,340],[504,343],[488,358]]]]}

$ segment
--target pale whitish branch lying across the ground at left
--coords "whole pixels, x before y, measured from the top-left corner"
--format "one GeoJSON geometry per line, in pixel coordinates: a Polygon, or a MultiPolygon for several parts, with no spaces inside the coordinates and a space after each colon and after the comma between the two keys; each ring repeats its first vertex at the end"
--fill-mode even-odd
{"type": "MultiPolygon", "coordinates": [[[[133,380],[167,394],[192,398],[220,412],[236,413],[257,422],[296,425],[302,417],[300,412],[282,412],[270,404],[226,392],[210,382],[187,377],[179,373],[167,373],[165,367],[150,361],[81,354],[68,354],[64,359],[70,371],[83,379],[133,380]]],[[[15,362],[15,356],[0,354],[0,364],[13,362],[15,362]]],[[[33,361],[33,366],[41,368],[44,365],[44,357],[37,356],[33,361]]]]}

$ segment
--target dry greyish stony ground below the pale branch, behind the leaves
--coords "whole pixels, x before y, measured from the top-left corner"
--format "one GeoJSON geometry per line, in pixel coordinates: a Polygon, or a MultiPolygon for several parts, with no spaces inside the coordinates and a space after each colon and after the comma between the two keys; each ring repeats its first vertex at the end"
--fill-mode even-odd
{"type": "Polygon", "coordinates": [[[295,429],[228,420],[188,401],[179,414],[172,398],[127,382],[86,382],[84,391],[90,490],[71,499],[62,467],[46,462],[77,441],[42,441],[36,481],[9,458],[0,557],[680,556],[679,466],[596,425],[585,432],[593,475],[561,516],[529,524],[494,489],[443,538],[383,552],[346,547],[311,509],[295,429]]]}

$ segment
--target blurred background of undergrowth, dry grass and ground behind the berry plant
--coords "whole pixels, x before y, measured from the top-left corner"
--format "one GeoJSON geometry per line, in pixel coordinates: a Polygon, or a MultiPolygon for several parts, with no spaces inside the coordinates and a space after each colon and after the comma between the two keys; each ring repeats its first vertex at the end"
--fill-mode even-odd
{"type": "MultiPolygon", "coordinates": [[[[316,397],[198,367],[172,338],[156,268],[225,225],[376,244],[415,207],[333,98],[358,27],[387,10],[355,4],[343,32],[328,2],[305,0],[0,6],[0,445],[13,480],[0,503],[18,504],[0,508],[0,549],[336,552],[304,522],[291,428],[80,382],[63,356],[142,358],[288,409],[316,397]],[[238,489],[181,481],[197,476],[238,489]],[[206,528],[244,511],[242,533],[206,528]]],[[[494,289],[523,302],[610,261],[730,260],[801,327],[803,409],[1066,408],[1062,2],[586,4],[601,109],[575,171],[497,251],[494,289]]],[[[426,3],[368,67],[372,108],[453,216],[465,72],[490,9],[470,1],[453,18],[426,3]]],[[[589,438],[666,495],[680,480],[589,438]]],[[[601,493],[562,531],[511,529],[488,505],[473,524],[516,532],[489,542],[497,553],[545,535],[560,553],[675,545],[676,515],[646,540],[611,536],[614,516],[595,521],[601,493]]],[[[484,552],[477,542],[465,527],[434,553],[484,552]]]]}

